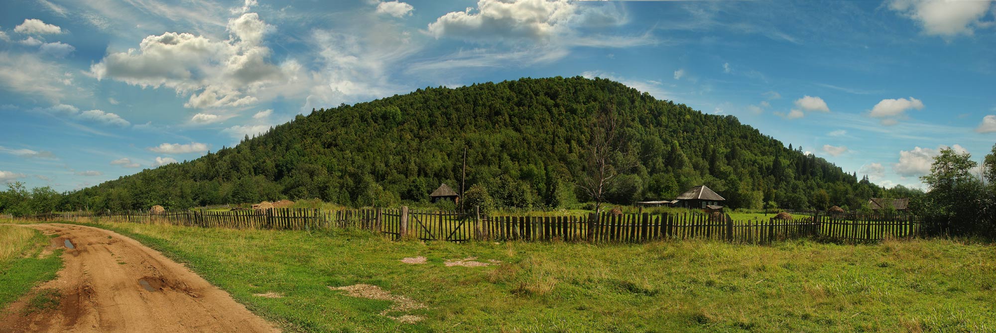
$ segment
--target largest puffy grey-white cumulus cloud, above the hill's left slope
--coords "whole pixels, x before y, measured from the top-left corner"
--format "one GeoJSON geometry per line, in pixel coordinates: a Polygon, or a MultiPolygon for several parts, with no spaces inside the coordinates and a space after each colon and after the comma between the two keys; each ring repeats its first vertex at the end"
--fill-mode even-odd
{"type": "MultiPolygon", "coordinates": [[[[214,41],[190,33],[145,37],[138,49],[112,53],[90,68],[105,78],[140,87],[166,87],[189,95],[186,108],[230,108],[257,102],[252,94],[288,79],[287,69],[269,61],[261,45],[272,30],[256,13],[228,21],[228,40],[214,41]]],[[[291,62],[291,61],[289,61],[291,62]]]]}

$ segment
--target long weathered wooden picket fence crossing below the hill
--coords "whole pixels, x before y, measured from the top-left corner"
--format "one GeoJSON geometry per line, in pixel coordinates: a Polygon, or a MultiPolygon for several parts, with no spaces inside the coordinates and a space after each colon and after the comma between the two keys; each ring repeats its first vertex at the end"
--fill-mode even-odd
{"type": "Polygon", "coordinates": [[[38,220],[106,218],[135,223],[248,229],[314,230],[360,228],[393,239],[426,241],[525,240],[642,242],[656,239],[716,239],[738,243],[770,243],[800,237],[877,241],[944,235],[943,225],[914,215],[820,215],[795,219],[741,220],[729,214],[590,213],[574,216],[482,214],[479,210],[424,211],[400,208],[321,210],[147,210],[67,212],[31,216],[38,220]]]}

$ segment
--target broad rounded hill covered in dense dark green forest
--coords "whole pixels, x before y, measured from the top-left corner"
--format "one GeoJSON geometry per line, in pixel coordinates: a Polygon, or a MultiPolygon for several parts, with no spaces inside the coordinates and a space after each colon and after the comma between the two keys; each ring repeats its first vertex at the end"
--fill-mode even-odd
{"type": "Polygon", "coordinates": [[[346,205],[423,201],[439,183],[481,184],[499,205],[559,207],[589,200],[575,185],[596,114],[622,122],[638,159],[610,201],[673,198],[706,184],[733,207],[858,207],[882,190],[857,174],[732,116],[657,101],[609,80],[521,79],[428,88],[313,111],[200,159],[145,169],[71,193],[90,208],[187,207],[321,198],[346,205]]]}

